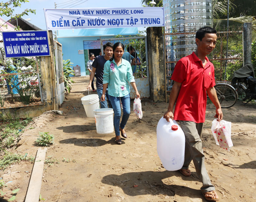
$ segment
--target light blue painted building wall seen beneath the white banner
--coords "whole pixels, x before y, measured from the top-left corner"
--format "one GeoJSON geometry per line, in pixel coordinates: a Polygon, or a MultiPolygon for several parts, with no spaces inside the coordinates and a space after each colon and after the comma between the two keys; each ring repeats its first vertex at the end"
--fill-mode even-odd
{"type": "MultiPolygon", "coordinates": [[[[132,28],[102,28],[102,29],[68,29],[58,30],[57,38],[62,44],[63,60],[70,59],[73,66],[81,67],[81,76],[86,75],[84,54],[78,54],[78,50],[84,50],[84,42],[101,38],[111,38],[117,34],[134,36],[138,33],[137,27],[132,28]]],[[[71,75],[73,76],[73,75],[71,75]]]]}

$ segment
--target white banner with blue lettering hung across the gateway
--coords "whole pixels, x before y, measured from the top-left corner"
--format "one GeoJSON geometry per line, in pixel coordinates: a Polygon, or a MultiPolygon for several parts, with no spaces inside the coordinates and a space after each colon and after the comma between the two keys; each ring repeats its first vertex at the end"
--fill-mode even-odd
{"type": "Polygon", "coordinates": [[[44,9],[44,15],[48,30],[164,26],[162,7],[44,9]]]}

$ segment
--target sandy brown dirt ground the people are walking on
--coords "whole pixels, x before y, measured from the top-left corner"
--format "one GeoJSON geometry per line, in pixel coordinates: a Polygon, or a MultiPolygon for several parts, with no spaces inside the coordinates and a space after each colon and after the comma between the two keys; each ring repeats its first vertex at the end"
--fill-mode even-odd
{"type": "MultiPolygon", "coordinates": [[[[97,134],[94,118],[86,116],[81,104],[80,99],[87,95],[89,77],[74,80],[76,83],[60,108],[64,114],[47,112],[37,117],[23,133],[18,147],[10,150],[35,156],[38,132],[54,135],[46,158],[52,156],[59,164],[44,165],[41,195],[45,201],[205,201],[193,163],[192,176],[185,177],[177,171],[166,171],[157,155],[156,125],[167,103],[142,99],[143,118],[137,119],[131,111],[125,128],[128,138],[116,145],[114,133],[97,134]]],[[[215,144],[211,133],[215,109],[213,104],[207,104],[202,137],[205,165],[220,201],[256,201],[255,110],[256,104],[244,106],[241,102],[223,109],[224,120],[232,122],[234,135],[234,146],[226,151],[215,144]]],[[[23,161],[0,172],[5,182],[11,181],[5,189],[20,188],[16,201],[25,199],[32,168],[32,163],[23,161]]]]}

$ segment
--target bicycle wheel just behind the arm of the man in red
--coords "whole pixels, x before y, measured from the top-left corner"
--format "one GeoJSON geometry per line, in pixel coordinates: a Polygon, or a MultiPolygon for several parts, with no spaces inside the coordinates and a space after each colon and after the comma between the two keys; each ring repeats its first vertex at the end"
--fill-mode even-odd
{"type": "Polygon", "coordinates": [[[214,86],[221,108],[229,108],[236,104],[237,92],[228,84],[217,84],[214,86]]]}

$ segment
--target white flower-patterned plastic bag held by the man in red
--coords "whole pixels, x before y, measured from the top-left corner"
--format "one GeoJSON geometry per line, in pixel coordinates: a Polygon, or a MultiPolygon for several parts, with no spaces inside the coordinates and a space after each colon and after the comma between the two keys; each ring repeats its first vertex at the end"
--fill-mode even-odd
{"type": "Polygon", "coordinates": [[[231,122],[228,121],[218,121],[214,119],[212,121],[212,135],[215,139],[216,145],[219,145],[221,148],[228,150],[233,146],[231,140],[231,122]]]}

